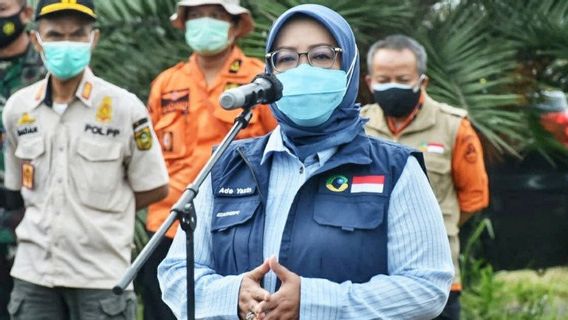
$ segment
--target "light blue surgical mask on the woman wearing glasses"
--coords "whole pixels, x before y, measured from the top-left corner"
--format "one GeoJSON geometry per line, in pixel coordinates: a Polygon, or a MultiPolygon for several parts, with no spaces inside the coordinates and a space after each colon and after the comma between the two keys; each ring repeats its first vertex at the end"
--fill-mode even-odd
{"type": "Polygon", "coordinates": [[[276,102],[278,110],[302,127],[326,122],[347,92],[356,58],[347,72],[303,63],[276,74],[284,87],[282,98],[276,102]]]}

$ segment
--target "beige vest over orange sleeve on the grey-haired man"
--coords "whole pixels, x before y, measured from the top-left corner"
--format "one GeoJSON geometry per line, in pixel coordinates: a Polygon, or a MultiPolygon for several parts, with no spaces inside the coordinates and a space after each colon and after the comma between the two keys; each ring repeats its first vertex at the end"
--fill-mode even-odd
{"type": "Polygon", "coordinates": [[[424,153],[430,184],[442,213],[452,250],[455,280],[452,290],[461,290],[459,273],[460,211],[487,207],[489,189],[481,143],[467,121],[467,112],[434,101],[427,95],[422,109],[398,135],[393,135],[379,105],[365,106],[369,118],[365,131],[371,136],[394,140],[424,153]]]}

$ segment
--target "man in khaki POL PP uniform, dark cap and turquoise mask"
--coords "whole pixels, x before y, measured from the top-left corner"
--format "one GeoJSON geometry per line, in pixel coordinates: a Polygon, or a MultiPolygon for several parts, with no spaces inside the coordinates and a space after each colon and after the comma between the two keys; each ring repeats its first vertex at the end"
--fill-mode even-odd
{"type": "Polygon", "coordinates": [[[26,207],[13,319],[135,318],[132,290],[111,289],[130,264],[135,209],[163,199],[168,176],[144,104],[87,66],[95,17],[91,0],[39,2],[32,41],[50,74],[4,110],[5,184],[26,207]]]}

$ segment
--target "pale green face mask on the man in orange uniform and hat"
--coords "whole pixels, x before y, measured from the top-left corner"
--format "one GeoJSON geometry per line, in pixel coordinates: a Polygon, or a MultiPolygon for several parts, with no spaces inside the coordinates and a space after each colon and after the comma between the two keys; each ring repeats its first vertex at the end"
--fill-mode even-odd
{"type": "Polygon", "coordinates": [[[207,56],[229,46],[231,24],[212,18],[191,19],[185,22],[185,41],[193,51],[207,56]]]}

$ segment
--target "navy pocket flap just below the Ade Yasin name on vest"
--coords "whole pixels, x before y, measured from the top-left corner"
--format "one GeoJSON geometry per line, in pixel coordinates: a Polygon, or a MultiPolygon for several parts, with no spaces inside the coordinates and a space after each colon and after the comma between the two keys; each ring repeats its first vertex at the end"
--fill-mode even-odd
{"type": "Polygon", "coordinates": [[[224,231],[249,221],[260,205],[258,197],[215,199],[211,231],[224,231]]]}

